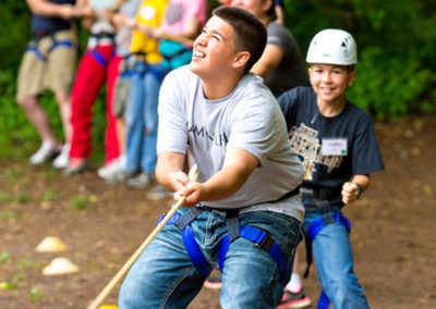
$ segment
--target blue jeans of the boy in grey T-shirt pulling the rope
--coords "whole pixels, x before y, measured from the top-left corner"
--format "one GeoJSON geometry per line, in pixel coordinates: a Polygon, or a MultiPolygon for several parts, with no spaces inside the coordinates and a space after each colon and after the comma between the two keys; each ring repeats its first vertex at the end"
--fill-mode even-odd
{"type": "MultiPolygon", "coordinates": [[[[179,209],[179,213],[185,211],[179,209]]],[[[268,232],[287,258],[294,254],[301,231],[298,220],[257,211],[240,214],[240,224],[268,232]]],[[[204,211],[191,226],[205,257],[217,267],[220,239],[227,233],[225,213],[204,211]]],[[[167,224],[128,273],[119,308],[186,308],[205,280],[190,260],[178,227],[167,224]]],[[[237,238],[229,247],[222,272],[221,308],[276,308],[274,293],[279,280],[277,264],[266,250],[237,238]]]]}

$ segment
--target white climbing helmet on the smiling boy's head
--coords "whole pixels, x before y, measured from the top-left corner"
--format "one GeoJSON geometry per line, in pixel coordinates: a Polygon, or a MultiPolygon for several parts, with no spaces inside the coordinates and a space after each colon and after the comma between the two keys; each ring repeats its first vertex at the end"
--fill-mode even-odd
{"type": "Polygon", "coordinates": [[[306,61],[307,63],[353,65],[358,63],[358,46],[348,32],[324,29],[312,39],[306,61]]]}

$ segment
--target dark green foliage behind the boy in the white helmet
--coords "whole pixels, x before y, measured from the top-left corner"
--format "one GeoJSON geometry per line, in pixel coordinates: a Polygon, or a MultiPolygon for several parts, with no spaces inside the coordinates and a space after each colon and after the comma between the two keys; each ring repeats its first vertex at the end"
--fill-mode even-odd
{"type": "Polygon", "coordinates": [[[303,54],[323,28],[343,28],[359,46],[351,101],[377,119],[435,110],[434,1],[284,0],[287,26],[303,54]]]}

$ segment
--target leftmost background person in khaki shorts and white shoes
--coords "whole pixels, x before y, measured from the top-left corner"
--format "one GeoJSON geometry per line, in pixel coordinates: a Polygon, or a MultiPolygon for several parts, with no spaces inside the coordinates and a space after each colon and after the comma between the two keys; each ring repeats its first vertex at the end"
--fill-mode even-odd
{"type": "Polygon", "coordinates": [[[41,164],[55,159],[53,166],[62,169],[68,162],[71,135],[70,90],[77,55],[77,27],[73,22],[75,1],[26,2],[32,11],[34,38],[28,44],[20,65],[16,101],[43,140],[38,151],[29,158],[31,163],[41,164]],[[57,139],[50,120],[39,103],[45,89],[51,90],[58,102],[64,144],[57,139]]]}

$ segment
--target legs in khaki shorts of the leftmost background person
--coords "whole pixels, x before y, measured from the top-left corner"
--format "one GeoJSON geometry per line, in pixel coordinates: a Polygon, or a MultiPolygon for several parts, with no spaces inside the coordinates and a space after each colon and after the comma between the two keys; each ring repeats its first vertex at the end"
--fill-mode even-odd
{"type": "Polygon", "coordinates": [[[70,134],[69,91],[75,66],[75,37],[70,30],[57,33],[55,37],[57,40],[71,41],[71,46],[53,46],[52,38],[48,36],[34,40],[20,65],[16,101],[43,140],[39,150],[31,157],[33,164],[55,159],[62,150],[62,144],[57,140],[50,121],[39,103],[45,88],[55,92],[59,103],[65,141],[70,134]]]}

